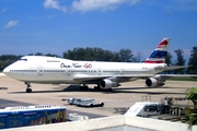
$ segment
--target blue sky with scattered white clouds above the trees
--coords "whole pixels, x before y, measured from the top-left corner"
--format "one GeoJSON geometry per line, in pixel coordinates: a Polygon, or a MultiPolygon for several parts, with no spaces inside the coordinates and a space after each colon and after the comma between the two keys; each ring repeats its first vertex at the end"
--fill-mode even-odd
{"type": "Polygon", "coordinates": [[[197,46],[197,0],[0,0],[0,55],[100,47],[147,58],[166,36],[172,55],[189,56],[197,46]]]}

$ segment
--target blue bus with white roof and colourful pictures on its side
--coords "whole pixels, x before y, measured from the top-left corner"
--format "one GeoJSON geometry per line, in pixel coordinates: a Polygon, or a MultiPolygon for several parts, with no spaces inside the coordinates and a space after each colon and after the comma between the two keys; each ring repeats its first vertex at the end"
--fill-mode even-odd
{"type": "Polygon", "coordinates": [[[66,107],[36,105],[0,109],[0,129],[66,121],[66,107]]]}

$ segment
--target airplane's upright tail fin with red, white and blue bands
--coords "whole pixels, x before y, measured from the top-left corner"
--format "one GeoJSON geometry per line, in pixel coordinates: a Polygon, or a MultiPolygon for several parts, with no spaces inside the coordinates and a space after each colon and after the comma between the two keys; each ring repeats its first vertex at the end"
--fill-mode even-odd
{"type": "Polygon", "coordinates": [[[165,37],[154,51],[146,59],[144,63],[164,63],[171,38],[165,37]]]}

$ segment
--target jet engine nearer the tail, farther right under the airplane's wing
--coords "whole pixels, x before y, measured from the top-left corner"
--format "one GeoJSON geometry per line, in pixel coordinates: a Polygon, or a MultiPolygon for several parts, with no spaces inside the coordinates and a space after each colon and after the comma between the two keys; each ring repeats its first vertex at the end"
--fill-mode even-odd
{"type": "Polygon", "coordinates": [[[146,80],[146,85],[148,87],[159,87],[159,86],[163,86],[165,83],[163,81],[160,81],[157,78],[149,78],[146,80]]]}

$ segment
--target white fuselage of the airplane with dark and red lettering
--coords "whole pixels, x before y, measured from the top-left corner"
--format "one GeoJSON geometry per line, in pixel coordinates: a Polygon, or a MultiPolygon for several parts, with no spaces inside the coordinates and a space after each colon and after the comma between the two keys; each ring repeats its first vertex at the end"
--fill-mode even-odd
{"type": "MultiPolygon", "coordinates": [[[[165,63],[128,63],[128,62],[99,62],[73,61],[51,57],[23,57],[3,70],[13,79],[28,83],[50,84],[82,84],[74,81],[74,76],[81,75],[111,75],[125,76],[131,74],[155,74],[158,67],[166,67],[165,63]]],[[[95,82],[84,82],[94,84],[95,82]]]]}

